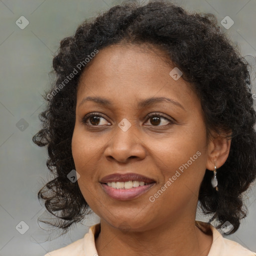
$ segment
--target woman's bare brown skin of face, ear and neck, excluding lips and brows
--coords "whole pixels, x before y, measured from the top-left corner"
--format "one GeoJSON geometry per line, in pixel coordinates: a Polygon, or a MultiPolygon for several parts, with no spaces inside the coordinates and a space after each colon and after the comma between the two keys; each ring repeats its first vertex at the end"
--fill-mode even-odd
{"type": "Polygon", "coordinates": [[[95,239],[100,256],[206,256],[212,244],[212,235],[194,225],[198,191],[205,169],[225,162],[230,140],[213,132],[207,140],[200,99],[182,76],[174,80],[169,75],[174,65],[163,55],[146,45],[110,45],[96,54],[80,76],[72,155],[80,174],[79,188],[101,219],[95,239]],[[87,96],[107,98],[111,106],[93,101],[79,105],[87,96]],[[165,101],[138,108],[140,100],[160,96],[183,108],[165,101]],[[94,126],[89,120],[87,125],[82,123],[90,112],[102,115],[94,126]],[[154,112],[173,118],[173,123],[147,117],[154,112]],[[127,131],[118,126],[123,118],[131,124],[127,131]],[[150,202],[149,196],[197,151],[201,155],[150,202]],[[99,180],[116,172],[139,173],[156,183],[137,198],[115,200],[99,180]]]}

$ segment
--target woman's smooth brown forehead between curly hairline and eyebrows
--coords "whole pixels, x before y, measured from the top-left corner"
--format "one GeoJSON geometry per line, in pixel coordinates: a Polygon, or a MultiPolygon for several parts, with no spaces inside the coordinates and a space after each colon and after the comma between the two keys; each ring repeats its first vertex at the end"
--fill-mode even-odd
{"type": "Polygon", "coordinates": [[[80,76],[77,102],[81,97],[105,96],[131,102],[138,95],[171,95],[178,99],[191,94],[191,86],[180,77],[166,52],[150,45],[110,45],[100,49],[80,76]]]}

